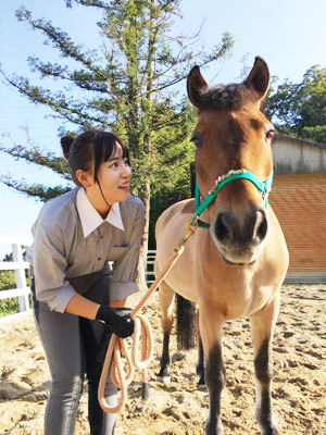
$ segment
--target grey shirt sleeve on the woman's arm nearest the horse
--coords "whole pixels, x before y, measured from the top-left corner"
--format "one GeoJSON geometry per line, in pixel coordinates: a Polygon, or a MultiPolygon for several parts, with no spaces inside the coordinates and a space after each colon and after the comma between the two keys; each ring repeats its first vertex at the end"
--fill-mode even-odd
{"type": "Polygon", "coordinates": [[[138,291],[135,283],[139,261],[139,249],[145,226],[143,204],[139,206],[129,238],[129,245],[123,256],[114,262],[110,282],[110,299],[122,300],[138,291]]]}

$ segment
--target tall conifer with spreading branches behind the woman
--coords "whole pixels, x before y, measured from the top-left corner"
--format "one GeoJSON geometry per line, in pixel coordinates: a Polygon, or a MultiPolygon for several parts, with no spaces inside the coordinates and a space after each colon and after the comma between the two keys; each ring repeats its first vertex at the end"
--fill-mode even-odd
{"type": "MultiPolygon", "coordinates": [[[[202,66],[226,57],[233,39],[228,34],[223,35],[221,44],[206,53],[196,48],[199,34],[189,38],[170,36],[172,17],[180,16],[179,0],[65,0],[65,3],[67,8],[76,3],[102,13],[98,23],[102,47],[96,51],[87,50],[50,21],[34,18],[24,7],[16,11],[16,16],[41,32],[63,59],[78,65],[74,70],[70,65],[29,57],[32,70],[41,77],[60,80],[62,86],[68,84],[72,89],[82,91],[83,98],[77,98],[74,92],[68,95],[67,91],[55,92],[34,86],[28,78],[9,76],[3,70],[1,73],[30,101],[47,105],[53,116],[73,123],[76,133],[86,128],[109,128],[126,140],[133,156],[133,189],[146,204],[146,257],[153,181],[161,184],[163,167],[171,170],[172,178],[178,181],[176,174],[185,164],[188,166],[190,160],[185,139],[189,137],[189,120],[193,112],[180,97],[177,86],[195,62],[202,66]],[[173,50],[173,45],[178,50],[173,50]]],[[[64,133],[64,126],[61,133],[64,133]]],[[[46,165],[64,179],[70,178],[62,159],[51,152],[45,154],[36,146],[14,145],[2,151],[46,165]]],[[[30,186],[4,177],[1,181],[42,200],[67,189],[66,186],[54,189],[30,186]]]]}

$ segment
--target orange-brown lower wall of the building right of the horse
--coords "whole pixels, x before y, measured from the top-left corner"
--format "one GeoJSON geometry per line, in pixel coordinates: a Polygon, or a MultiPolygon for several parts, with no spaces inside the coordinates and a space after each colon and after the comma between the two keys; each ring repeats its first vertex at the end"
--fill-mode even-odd
{"type": "Polygon", "coordinates": [[[269,203],[290,254],[289,272],[326,273],[326,175],[276,175],[269,203]]]}

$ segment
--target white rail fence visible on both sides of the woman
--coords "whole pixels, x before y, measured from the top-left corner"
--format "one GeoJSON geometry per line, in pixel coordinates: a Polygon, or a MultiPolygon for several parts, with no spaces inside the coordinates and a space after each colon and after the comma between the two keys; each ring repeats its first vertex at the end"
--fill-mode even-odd
{"type": "MultiPolygon", "coordinates": [[[[16,288],[10,290],[0,290],[0,300],[18,298],[18,312],[0,318],[0,323],[18,318],[32,311],[29,304],[30,287],[27,286],[25,271],[28,270],[28,263],[23,260],[23,247],[30,246],[32,239],[0,236],[0,244],[11,245],[13,261],[1,261],[0,271],[15,271],[16,288]]],[[[155,251],[149,250],[147,257],[146,279],[148,284],[154,282],[154,259],[155,251]]]]}

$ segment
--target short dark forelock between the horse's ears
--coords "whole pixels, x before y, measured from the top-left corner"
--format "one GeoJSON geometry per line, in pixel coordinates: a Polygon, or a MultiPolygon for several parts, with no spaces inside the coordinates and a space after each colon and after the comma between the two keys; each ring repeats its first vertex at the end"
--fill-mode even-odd
{"type": "Polygon", "coordinates": [[[246,84],[216,85],[203,89],[199,98],[199,108],[240,110],[249,102],[256,101],[255,92],[246,84]]]}

